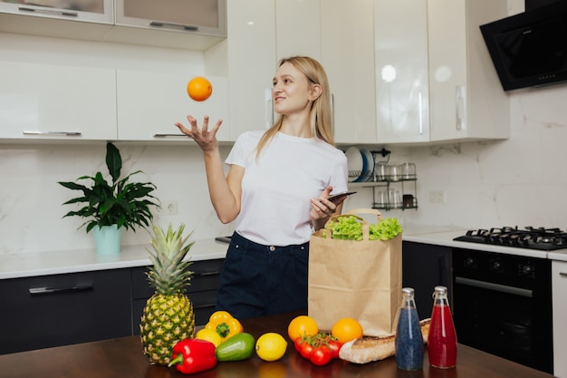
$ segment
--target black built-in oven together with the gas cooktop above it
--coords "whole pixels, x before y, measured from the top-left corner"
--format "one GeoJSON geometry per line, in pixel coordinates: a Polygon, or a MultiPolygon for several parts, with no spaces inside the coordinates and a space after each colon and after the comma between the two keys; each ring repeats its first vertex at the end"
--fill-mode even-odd
{"type": "Polygon", "coordinates": [[[458,342],[553,373],[552,265],[545,251],[565,248],[563,241],[520,235],[533,234],[532,228],[493,228],[479,237],[481,231],[468,235],[474,240],[456,238],[471,241],[470,247],[452,249],[451,307],[458,342]],[[532,251],[488,252],[474,243],[532,251]]]}

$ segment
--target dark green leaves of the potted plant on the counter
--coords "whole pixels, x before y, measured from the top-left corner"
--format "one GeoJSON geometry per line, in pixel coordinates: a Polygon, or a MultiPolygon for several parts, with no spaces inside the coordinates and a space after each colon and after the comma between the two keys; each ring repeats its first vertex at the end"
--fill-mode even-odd
{"type": "Polygon", "coordinates": [[[130,177],[140,173],[137,170],[123,179],[120,179],[122,170],[122,158],[120,150],[110,141],[106,144],[106,166],[111,174],[111,183],[102,177],[101,172],[97,172],[94,177],[82,176],[78,180],[91,180],[91,187],[68,181],[58,183],[63,187],[72,190],[82,191],[82,196],[70,199],[63,205],[74,203],[84,203],[85,205],[76,211],[69,211],[65,217],[87,218],[79,228],[86,225],[87,233],[95,226],[118,225],[119,228],[132,229],[135,227],[146,228],[153,219],[150,208],[159,207],[159,200],[150,193],[156,189],[151,182],[129,182],[130,177]]]}

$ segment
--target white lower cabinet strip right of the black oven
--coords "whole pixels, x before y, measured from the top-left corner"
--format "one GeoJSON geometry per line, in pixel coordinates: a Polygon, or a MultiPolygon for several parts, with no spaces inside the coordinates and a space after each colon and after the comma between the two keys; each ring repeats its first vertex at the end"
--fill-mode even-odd
{"type": "Polygon", "coordinates": [[[553,298],[553,375],[567,377],[567,262],[552,262],[553,298]]]}

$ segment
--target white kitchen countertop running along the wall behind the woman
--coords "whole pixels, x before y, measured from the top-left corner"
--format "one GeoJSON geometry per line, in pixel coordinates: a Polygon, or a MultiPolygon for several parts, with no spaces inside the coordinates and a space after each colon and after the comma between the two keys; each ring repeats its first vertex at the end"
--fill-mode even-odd
{"type": "MultiPolygon", "coordinates": [[[[567,261],[567,249],[545,252],[453,240],[455,237],[464,235],[466,230],[466,228],[443,226],[405,225],[403,240],[443,247],[474,248],[487,252],[567,261]]],[[[94,249],[2,255],[0,256],[0,279],[149,266],[151,263],[147,247],[149,246],[124,246],[118,256],[100,256],[95,253],[94,249]]],[[[224,258],[227,247],[226,243],[217,242],[213,238],[198,239],[187,256],[192,261],[224,258]]]]}

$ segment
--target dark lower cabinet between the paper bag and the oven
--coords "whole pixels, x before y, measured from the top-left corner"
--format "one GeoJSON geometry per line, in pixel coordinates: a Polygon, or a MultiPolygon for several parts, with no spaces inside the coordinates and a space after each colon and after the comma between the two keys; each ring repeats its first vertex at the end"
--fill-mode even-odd
{"type": "Polygon", "coordinates": [[[420,319],[431,316],[435,286],[447,286],[451,305],[451,248],[402,242],[402,285],[413,287],[420,319]]]}

